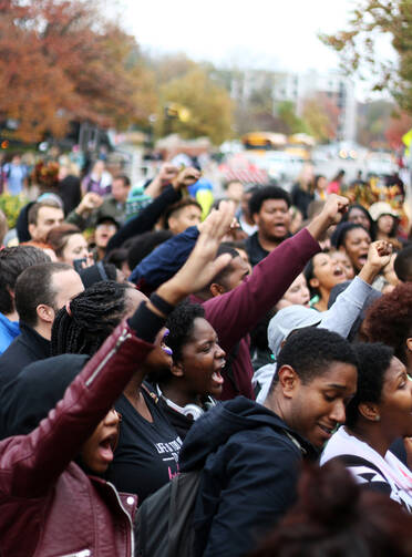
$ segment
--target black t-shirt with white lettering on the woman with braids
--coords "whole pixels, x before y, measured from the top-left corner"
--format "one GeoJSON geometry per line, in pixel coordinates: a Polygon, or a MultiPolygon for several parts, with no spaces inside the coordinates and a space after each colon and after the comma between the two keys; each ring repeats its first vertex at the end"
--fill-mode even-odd
{"type": "Polygon", "coordinates": [[[158,403],[142,389],[153,422],[145,420],[122,395],[115,408],[123,420],[107,478],[121,492],[135,493],[138,504],[178,473],[182,440],[158,403]]]}

